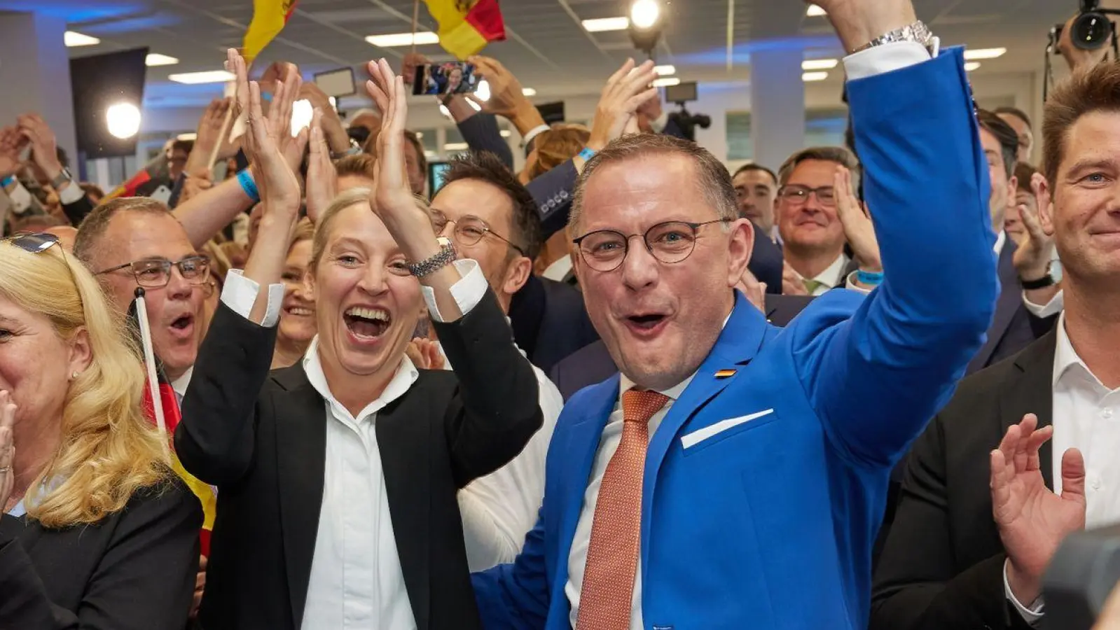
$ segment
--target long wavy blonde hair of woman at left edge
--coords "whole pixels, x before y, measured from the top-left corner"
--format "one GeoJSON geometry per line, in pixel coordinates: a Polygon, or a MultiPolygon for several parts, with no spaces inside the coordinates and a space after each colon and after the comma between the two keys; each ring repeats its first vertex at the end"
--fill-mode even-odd
{"type": "Polygon", "coordinates": [[[64,340],[83,328],[90,339],[90,367],[66,392],[62,441],[31,481],[28,516],[52,529],[94,524],[124,509],[138,490],[167,481],[161,438],[141,411],[144,375],[134,337],[90,271],[60,247],[32,254],[7,243],[0,295],[46,316],[64,340]]]}

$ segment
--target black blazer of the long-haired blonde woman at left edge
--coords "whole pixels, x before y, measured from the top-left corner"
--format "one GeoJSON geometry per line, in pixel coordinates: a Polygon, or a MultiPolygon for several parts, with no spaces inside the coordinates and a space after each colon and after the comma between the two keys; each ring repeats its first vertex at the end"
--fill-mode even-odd
{"type": "Polygon", "coordinates": [[[96,525],[0,517],[0,629],[181,630],[203,509],[171,471],[96,525]]]}

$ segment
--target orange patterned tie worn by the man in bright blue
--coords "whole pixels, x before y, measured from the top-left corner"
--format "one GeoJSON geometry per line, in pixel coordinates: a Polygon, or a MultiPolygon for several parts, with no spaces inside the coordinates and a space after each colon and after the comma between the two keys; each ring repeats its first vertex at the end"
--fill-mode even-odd
{"type": "Polygon", "coordinates": [[[648,423],[668,401],[656,392],[629,389],[623,394],[623,438],[599,485],[576,630],[629,628],[642,542],[642,473],[648,423]]]}

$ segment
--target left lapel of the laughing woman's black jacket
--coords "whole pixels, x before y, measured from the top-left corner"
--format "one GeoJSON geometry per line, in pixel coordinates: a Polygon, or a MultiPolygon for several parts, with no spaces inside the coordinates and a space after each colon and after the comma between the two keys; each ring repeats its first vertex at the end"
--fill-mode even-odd
{"type": "Polygon", "coordinates": [[[292,618],[298,628],[307,604],[311,558],[323,509],[323,479],[326,471],[326,403],[307,379],[302,364],[276,375],[286,391],[273,398],[276,405],[277,480],[280,487],[280,528],[292,618]]]}

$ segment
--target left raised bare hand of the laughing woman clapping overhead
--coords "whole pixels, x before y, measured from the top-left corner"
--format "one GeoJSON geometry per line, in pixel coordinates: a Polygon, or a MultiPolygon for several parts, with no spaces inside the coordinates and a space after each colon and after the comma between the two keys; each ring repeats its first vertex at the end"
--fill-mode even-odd
{"type": "MultiPolygon", "coordinates": [[[[244,150],[269,214],[279,213],[296,217],[299,214],[299,179],[286,161],[281,148],[291,142],[291,102],[299,91],[299,75],[276,83],[272,106],[265,116],[261,107],[261,86],[249,82],[245,59],[233,48],[228,51],[228,68],[237,76],[237,109],[249,112],[249,129],[244,134],[244,150]]],[[[306,132],[300,132],[306,138],[306,132]]],[[[304,140],[306,143],[306,139],[304,140]]],[[[302,154],[302,149],[300,149],[302,154]]]]}

